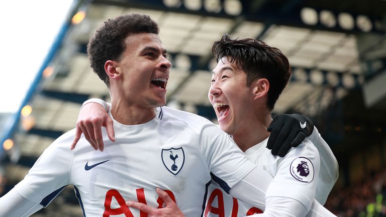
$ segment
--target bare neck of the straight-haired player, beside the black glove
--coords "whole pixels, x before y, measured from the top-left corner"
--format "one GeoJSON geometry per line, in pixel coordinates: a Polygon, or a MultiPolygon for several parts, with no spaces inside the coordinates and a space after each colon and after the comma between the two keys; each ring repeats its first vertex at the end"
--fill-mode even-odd
{"type": "Polygon", "coordinates": [[[233,140],[239,148],[245,152],[252,146],[264,141],[269,136],[267,128],[271,123],[269,110],[256,109],[253,117],[248,117],[243,129],[232,134],[233,140]]]}

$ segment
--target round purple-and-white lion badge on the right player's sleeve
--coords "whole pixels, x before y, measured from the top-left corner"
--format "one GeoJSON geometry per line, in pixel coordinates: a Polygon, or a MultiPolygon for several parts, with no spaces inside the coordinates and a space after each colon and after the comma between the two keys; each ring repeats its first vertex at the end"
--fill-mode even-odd
{"type": "Polygon", "coordinates": [[[306,157],[298,157],[293,160],[289,172],[301,182],[311,182],[314,179],[314,165],[306,157]]]}

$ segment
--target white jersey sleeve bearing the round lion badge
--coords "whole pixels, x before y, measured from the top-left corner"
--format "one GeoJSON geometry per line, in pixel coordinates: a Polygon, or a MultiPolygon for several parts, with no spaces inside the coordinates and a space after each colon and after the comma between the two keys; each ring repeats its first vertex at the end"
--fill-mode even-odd
{"type": "Polygon", "coordinates": [[[300,201],[308,210],[315,198],[320,170],[319,153],[305,140],[281,159],[270,183],[266,198],[288,197],[300,201]]]}

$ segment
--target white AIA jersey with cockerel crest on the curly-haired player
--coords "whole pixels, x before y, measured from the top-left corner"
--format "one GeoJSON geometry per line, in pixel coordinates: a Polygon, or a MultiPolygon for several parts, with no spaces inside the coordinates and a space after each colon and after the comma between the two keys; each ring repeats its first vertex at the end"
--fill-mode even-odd
{"type": "Polygon", "coordinates": [[[255,165],[229,136],[210,121],[169,107],[157,108],[148,123],[126,126],[114,121],[116,142],[95,151],[82,137],[69,150],[75,130],[48,147],[16,190],[48,203],[73,185],[84,216],[147,216],[126,206],[134,200],[163,205],[155,191],[166,190],[185,216],[203,215],[212,177],[229,190],[255,165]],[[211,176],[212,174],[212,176],[211,176]]]}

